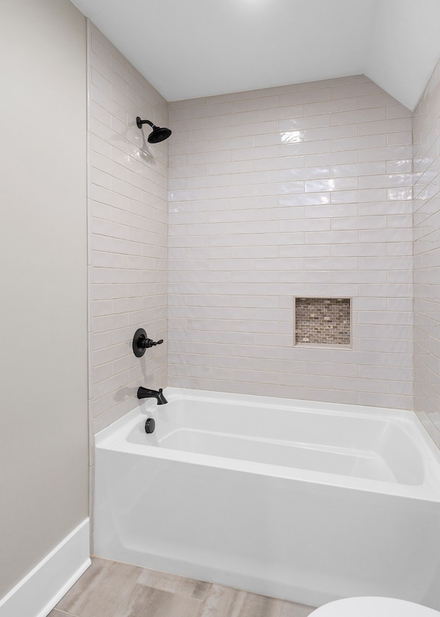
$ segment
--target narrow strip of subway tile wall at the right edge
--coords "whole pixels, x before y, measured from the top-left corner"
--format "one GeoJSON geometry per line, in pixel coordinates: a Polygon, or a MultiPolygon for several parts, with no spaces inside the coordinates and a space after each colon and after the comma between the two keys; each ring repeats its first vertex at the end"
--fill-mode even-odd
{"type": "Polygon", "coordinates": [[[440,64],[415,111],[415,411],[440,448],[440,64]]]}

